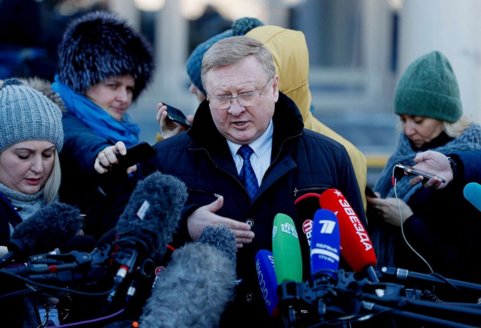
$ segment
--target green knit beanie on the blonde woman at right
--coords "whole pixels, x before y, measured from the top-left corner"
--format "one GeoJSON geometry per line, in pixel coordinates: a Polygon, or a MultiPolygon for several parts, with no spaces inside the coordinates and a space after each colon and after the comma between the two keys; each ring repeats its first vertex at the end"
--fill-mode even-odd
{"type": "Polygon", "coordinates": [[[441,52],[430,52],[409,65],[396,87],[394,113],[448,122],[461,117],[458,82],[441,52]]]}

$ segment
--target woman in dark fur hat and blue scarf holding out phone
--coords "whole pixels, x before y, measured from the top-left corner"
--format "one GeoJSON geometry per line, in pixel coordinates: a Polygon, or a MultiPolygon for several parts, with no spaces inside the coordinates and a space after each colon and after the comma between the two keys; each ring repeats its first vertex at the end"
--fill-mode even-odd
{"type": "MultiPolygon", "coordinates": [[[[99,173],[117,162],[116,153],[125,155],[139,142],[140,129],[127,109],[152,80],[153,70],[150,45],[112,13],[73,21],[59,45],[52,89],[66,108],[60,196],[87,214],[85,229],[95,237],[116,223],[118,213],[112,211],[122,196],[117,192],[136,183],[128,175],[113,179],[99,173]]],[[[134,170],[129,167],[127,173],[134,170]]]]}

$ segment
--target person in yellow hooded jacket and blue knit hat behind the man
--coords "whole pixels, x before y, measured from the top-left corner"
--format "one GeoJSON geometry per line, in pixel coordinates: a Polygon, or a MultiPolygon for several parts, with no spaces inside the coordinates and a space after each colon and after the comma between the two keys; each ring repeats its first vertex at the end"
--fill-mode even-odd
{"type": "MultiPolygon", "coordinates": [[[[264,25],[256,18],[243,17],[236,20],[232,24],[232,29],[211,37],[192,51],[187,60],[187,73],[192,82],[190,91],[199,101],[206,98],[206,91],[200,79],[202,57],[215,42],[233,35],[247,35],[262,42],[273,55],[275,73],[279,75],[279,90],[295,102],[303,116],[305,128],[324,134],[346,148],[353,163],[366,210],[366,158],[351,142],[321,123],[310,111],[312,96],[309,90],[309,51],[304,33],[279,26],[264,25]]],[[[192,122],[192,119],[193,116],[189,115],[188,120],[192,122]]],[[[185,130],[184,127],[167,118],[166,107],[161,102],[158,106],[157,120],[160,123],[163,138],[185,130]]]]}

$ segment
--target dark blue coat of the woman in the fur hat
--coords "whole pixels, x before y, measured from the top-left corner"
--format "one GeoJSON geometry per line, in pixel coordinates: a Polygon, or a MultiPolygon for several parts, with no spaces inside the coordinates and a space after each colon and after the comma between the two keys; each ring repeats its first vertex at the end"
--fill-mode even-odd
{"type": "Polygon", "coordinates": [[[97,154],[114,141],[99,137],[69,113],[64,113],[62,124],[65,137],[60,153],[60,201],[86,214],[84,232],[98,239],[115,227],[137,183],[137,174],[98,174],[94,169],[97,154]]]}

